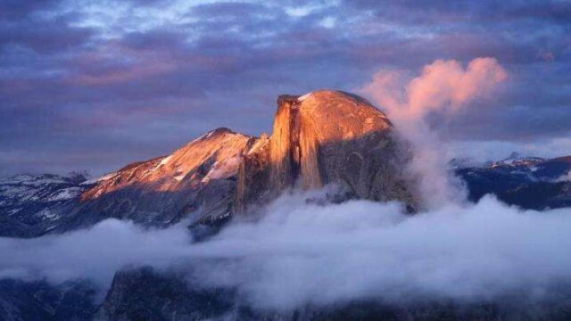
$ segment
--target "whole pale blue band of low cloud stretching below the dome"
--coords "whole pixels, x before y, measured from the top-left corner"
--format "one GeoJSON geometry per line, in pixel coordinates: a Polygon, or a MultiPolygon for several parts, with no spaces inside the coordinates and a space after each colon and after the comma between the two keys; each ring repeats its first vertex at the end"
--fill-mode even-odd
{"type": "Polygon", "coordinates": [[[188,268],[200,284],[234,287],[268,309],[542,297],[571,281],[569,209],[518,210],[484,197],[410,216],[397,202],[306,202],[315,197],[286,193],[260,220],[235,220],[203,243],[191,244],[184,225],[145,231],[116,220],[66,235],[3,238],[0,276],[86,277],[109,286],[126,266],[188,268]]]}

